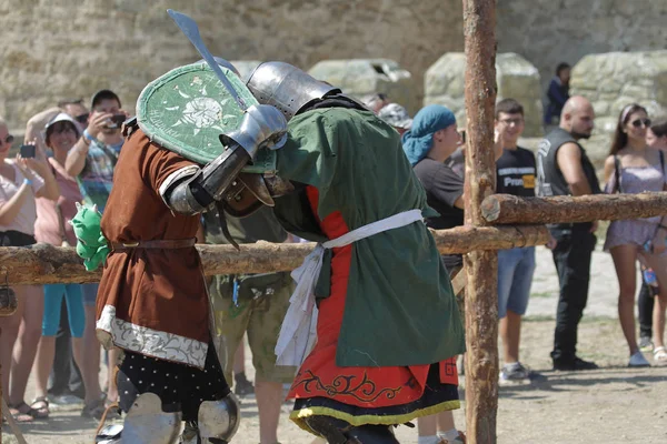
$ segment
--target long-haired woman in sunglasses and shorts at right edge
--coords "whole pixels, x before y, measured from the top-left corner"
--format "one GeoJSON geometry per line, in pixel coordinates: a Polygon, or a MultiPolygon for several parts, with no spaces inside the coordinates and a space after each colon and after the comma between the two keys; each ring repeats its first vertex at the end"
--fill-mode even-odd
{"type": "MultiPolygon", "coordinates": [[[[620,112],[609,157],[605,161],[608,193],[667,190],[664,153],[646,144],[649,127],[650,120],[644,107],[633,103],[620,112]]],[[[654,309],[654,362],[667,363],[663,342],[667,306],[666,238],[667,222],[660,216],[614,221],[607,231],[605,250],[611,253],[618,276],[618,319],[630,352],[629,366],[649,365],[637,345],[635,332],[638,261],[655,270],[660,286],[654,309]]]]}

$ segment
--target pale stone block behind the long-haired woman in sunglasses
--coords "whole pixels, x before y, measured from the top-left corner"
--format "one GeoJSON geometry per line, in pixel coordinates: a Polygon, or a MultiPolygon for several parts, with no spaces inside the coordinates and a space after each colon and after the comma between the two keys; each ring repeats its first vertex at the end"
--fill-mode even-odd
{"type": "Polygon", "coordinates": [[[596,129],[587,147],[591,161],[601,167],[624,107],[637,102],[649,115],[665,111],[667,51],[586,56],[573,69],[570,93],[593,103],[596,129]]]}

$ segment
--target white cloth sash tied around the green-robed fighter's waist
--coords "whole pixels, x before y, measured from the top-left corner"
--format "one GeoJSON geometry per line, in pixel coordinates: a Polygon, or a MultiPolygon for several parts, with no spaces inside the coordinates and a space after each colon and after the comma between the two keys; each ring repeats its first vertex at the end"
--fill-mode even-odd
{"type": "Polygon", "coordinates": [[[424,221],[421,210],[409,210],[352,230],[322,244],[306,256],[301,266],[291,272],[297,287],[289,299],[289,309],[276,344],[277,365],[299,366],[317,341],[317,306],[315,285],[322,268],[325,249],[336,249],[384,231],[424,221]]]}

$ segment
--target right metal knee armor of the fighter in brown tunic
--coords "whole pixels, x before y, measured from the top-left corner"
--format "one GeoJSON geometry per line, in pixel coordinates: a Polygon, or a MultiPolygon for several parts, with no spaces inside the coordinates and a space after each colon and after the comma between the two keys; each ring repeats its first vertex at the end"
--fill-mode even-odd
{"type": "Polygon", "coordinates": [[[218,401],[205,401],[198,418],[202,444],[227,444],[239,428],[239,402],[232,393],[218,401]]]}

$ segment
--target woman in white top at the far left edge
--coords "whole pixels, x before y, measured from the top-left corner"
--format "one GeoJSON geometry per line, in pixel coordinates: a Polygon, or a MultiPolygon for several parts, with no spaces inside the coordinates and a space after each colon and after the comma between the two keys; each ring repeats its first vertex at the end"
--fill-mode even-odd
{"type": "MultiPolygon", "coordinates": [[[[34,159],[23,159],[18,154],[10,160],[7,158],[12,141],[7,123],[0,118],[0,245],[24,246],[36,243],[34,198],[57,200],[60,191],[41,145],[36,147],[34,159]]],[[[41,336],[43,295],[41,285],[17,285],[12,289],[19,300],[17,313],[0,319],[2,395],[10,405],[11,414],[24,422],[39,417],[39,412],[26,404],[23,396],[41,336]],[[21,323],[23,329],[19,336],[21,323]]]]}

